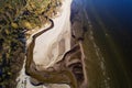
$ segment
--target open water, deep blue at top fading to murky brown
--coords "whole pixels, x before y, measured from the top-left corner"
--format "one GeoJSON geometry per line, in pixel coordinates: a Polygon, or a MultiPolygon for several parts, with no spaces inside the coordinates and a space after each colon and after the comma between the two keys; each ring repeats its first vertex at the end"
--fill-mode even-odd
{"type": "MultiPolygon", "coordinates": [[[[78,0],[77,0],[78,1],[78,0]]],[[[132,88],[132,0],[84,0],[89,88],[132,88]]]]}

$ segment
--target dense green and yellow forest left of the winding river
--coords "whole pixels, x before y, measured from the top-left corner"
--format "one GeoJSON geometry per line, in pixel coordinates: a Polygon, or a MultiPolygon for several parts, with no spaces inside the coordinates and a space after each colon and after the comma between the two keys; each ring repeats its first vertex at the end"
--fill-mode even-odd
{"type": "Polygon", "coordinates": [[[15,88],[31,35],[26,32],[43,26],[59,6],[62,0],[1,0],[0,88],[15,88]]]}

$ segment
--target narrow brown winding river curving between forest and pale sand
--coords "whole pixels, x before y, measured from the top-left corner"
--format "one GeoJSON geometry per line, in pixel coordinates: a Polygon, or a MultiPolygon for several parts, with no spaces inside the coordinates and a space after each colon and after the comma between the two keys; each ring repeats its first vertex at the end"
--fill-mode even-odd
{"type": "MultiPolygon", "coordinates": [[[[68,1],[67,1],[68,2],[68,1]]],[[[69,0],[70,2],[70,0],[69,0]]],[[[69,4],[69,3],[68,3],[69,4]]],[[[66,4],[69,9],[70,7],[66,4]]],[[[67,8],[65,8],[67,9],[67,8]]],[[[67,12],[65,11],[65,13],[67,14],[67,12]]],[[[69,18],[69,14],[68,13],[66,15],[66,18],[68,16],[69,18]]],[[[62,14],[63,15],[63,14],[62,14]]],[[[64,15],[65,16],[65,15],[64,15]]],[[[62,16],[63,18],[63,16],[62,16]]],[[[22,69],[22,73],[24,73],[25,70],[25,74],[29,75],[30,77],[32,77],[33,80],[35,80],[35,82],[31,81],[32,85],[34,86],[38,86],[38,85],[42,85],[42,84],[68,84],[70,85],[73,88],[77,88],[77,84],[76,84],[76,79],[75,79],[75,76],[73,76],[72,72],[69,69],[65,69],[65,65],[64,63],[56,63],[54,65],[54,67],[50,67],[47,69],[37,69],[36,68],[36,64],[35,62],[33,61],[33,54],[34,54],[34,47],[35,47],[35,41],[36,38],[48,32],[50,30],[53,30],[54,28],[54,22],[52,19],[48,19],[50,22],[51,22],[51,25],[50,28],[47,29],[44,29],[37,33],[35,33],[34,35],[31,36],[31,38],[29,40],[29,43],[28,43],[28,48],[26,48],[26,61],[25,61],[25,69],[22,69]],[[38,81],[37,81],[38,80],[38,81]]],[[[65,19],[64,19],[65,21],[65,19]]],[[[61,21],[59,21],[61,22],[61,21]]],[[[69,21],[64,23],[64,24],[67,24],[69,25],[69,21]]],[[[66,25],[64,25],[66,26],[66,25]]],[[[62,28],[63,29],[63,28],[62,28]]],[[[67,28],[67,29],[70,29],[70,28],[67,28]]],[[[67,33],[67,32],[66,32],[67,33]]],[[[70,35],[70,34],[68,34],[70,35]]],[[[70,38],[69,38],[70,40],[70,38]]],[[[66,40],[67,42],[67,40],[66,40]]],[[[65,51],[64,53],[66,54],[67,51],[65,51]]],[[[65,54],[63,54],[63,56],[65,56],[65,54]]],[[[24,66],[23,66],[24,67],[24,66]]],[[[25,75],[23,74],[23,76],[25,75]]],[[[30,77],[26,77],[26,78],[30,78],[30,77]]],[[[21,81],[21,75],[20,77],[18,78],[18,81],[21,81]]],[[[22,82],[18,84],[18,88],[21,88],[21,84],[24,82],[24,85],[26,85],[29,80],[22,80],[22,82]],[[25,82],[24,82],[25,81],[25,82]]],[[[26,87],[26,86],[25,86],[26,87]]],[[[22,88],[25,88],[25,87],[22,87],[22,88]]],[[[68,87],[68,86],[66,86],[68,87]]]]}

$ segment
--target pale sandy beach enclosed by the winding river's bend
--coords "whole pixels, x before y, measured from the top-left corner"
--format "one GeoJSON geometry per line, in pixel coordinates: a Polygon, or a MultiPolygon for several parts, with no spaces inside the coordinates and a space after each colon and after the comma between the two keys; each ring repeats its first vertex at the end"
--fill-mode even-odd
{"type": "Polygon", "coordinates": [[[58,43],[63,38],[65,40],[65,52],[70,50],[70,3],[72,0],[63,1],[62,12],[57,18],[52,19],[54,28],[40,35],[35,41],[33,61],[38,69],[45,69],[62,59],[64,54],[59,55],[58,43]]]}

